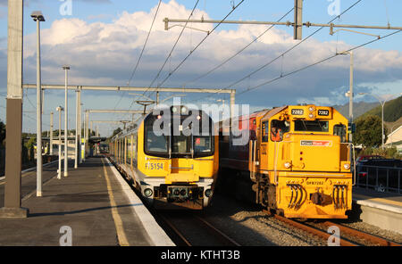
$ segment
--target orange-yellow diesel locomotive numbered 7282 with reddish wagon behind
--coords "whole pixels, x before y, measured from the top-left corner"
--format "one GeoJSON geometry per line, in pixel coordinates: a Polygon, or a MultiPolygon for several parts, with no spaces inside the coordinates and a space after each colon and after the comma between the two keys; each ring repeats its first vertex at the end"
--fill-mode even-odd
{"type": "Polygon", "coordinates": [[[239,117],[249,142],[220,129],[222,185],[287,218],[346,219],[352,206],[348,120],[332,107],[293,105],[239,117]]]}

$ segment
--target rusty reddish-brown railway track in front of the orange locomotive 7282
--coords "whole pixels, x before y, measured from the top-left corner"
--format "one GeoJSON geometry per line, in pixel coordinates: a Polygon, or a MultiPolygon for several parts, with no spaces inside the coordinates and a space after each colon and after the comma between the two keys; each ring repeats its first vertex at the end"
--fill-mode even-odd
{"type": "MultiPolygon", "coordinates": [[[[321,237],[322,239],[325,239],[328,241],[331,235],[326,231],[322,230],[321,228],[316,228],[312,227],[311,225],[307,225],[305,223],[293,220],[293,219],[286,219],[284,217],[281,217],[276,214],[271,214],[271,212],[264,210],[265,213],[271,215],[274,219],[278,219],[283,223],[288,224],[289,226],[296,227],[298,229],[301,229],[303,231],[306,231],[307,233],[311,235],[316,235],[318,237],[321,237]]],[[[325,221],[322,222],[318,225],[321,225],[322,227],[325,227],[326,230],[328,230],[329,227],[339,227],[339,245],[341,246],[360,246],[360,245],[367,245],[369,243],[370,245],[381,245],[381,246],[401,246],[399,243],[395,243],[392,241],[389,241],[385,238],[376,236],[376,235],[371,235],[364,233],[362,231],[350,228],[350,227],[345,227],[339,223],[333,223],[331,221],[325,221]],[[345,238],[345,236],[348,237],[348,239],[345,238]],[[361,241],[364,241],[365,243],[361,243],[361,241]]]]}

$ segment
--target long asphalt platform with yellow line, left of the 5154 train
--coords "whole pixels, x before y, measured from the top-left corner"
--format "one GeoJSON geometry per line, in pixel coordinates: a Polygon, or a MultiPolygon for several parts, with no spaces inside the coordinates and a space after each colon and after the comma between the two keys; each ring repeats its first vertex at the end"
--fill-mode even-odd
{"type": "MultiPolygon", "coordinates": [[[[44,168],[42,197],[36,196],[36,173],[22,175],[21,206],[29,217],[0,219],[0,245],[174,245],[105,158],[89,158],[79,169],[69,166],[69,176],[61,179],[56,169],[57,164],[44,168]]],[[[0,200],[4,204],[4,195],[0,200]]]]}

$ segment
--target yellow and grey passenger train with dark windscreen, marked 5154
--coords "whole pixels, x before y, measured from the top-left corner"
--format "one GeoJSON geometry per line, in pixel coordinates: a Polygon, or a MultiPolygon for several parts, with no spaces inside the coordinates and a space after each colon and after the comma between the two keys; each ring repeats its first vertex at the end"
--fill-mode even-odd
{"type": "Polygon", "coordinates": [[[201,210],[219,169],[213,129],[204,111],[158,108],[113,137],[111,158],[155,208],[201,210]]]}

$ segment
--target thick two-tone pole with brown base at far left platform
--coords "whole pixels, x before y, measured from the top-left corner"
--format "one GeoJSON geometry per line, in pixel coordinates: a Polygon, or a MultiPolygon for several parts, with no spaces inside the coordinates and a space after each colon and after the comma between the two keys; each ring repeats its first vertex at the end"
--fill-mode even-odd
{"type": "Polygon", "coordinates": [[[0,218],[27,218],[21,208],[23,0],[8,0],[4,207],[0,218]]]}

